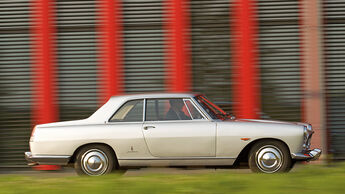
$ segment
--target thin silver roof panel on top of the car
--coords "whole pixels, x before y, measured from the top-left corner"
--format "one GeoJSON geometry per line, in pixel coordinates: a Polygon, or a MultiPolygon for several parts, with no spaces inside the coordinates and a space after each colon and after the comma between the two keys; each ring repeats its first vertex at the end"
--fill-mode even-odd
{"type": "Polygon", "coordinates": [[[119,96],[112,96],[111,99],[142,99],[142,98],[191,98],[196,95],[197,93],[142,93],[142,94],[129,94],[129,95],[119,95],[119,96]]]}

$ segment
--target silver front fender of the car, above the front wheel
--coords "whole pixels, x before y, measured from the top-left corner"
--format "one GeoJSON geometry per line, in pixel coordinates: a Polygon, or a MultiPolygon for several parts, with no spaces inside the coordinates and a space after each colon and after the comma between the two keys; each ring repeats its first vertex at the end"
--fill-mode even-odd
{"type": "Polygon", "coordinates": [[[237,158],[251,142],[260,139],[284,142],[290,154],[300,152],[303,145],[303,126],[281,123],[220,121],[217,123],[217,157],[237,158]]]}

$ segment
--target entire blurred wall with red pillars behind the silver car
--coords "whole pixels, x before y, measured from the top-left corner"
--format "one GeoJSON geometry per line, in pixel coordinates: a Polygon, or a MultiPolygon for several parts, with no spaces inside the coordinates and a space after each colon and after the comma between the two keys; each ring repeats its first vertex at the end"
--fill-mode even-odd
{"type": "Polygon", "coordinates": [[[34,124],[179,91],[309,122],[313,144],[345,159],[345,1],[0,1],[0,167],[26,165],[34,124]]]}

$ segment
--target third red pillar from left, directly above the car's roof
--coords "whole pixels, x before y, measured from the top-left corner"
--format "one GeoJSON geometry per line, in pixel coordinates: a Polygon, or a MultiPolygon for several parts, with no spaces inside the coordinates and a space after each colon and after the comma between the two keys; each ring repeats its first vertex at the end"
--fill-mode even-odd
{"type": "Polygon", "coordinates": [[[166,84],[170,92],[190,90],[189,18],[186,0],[167,0],[166,30],[166,84]]]}

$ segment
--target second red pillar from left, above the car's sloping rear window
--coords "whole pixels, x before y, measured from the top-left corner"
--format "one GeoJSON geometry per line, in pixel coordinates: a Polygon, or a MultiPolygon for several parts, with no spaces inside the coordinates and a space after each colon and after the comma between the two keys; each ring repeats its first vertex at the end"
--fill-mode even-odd
{"type": "Polygon", "coordinates": [[[118,0],[98,0],[100,103],[122,92],[121,9],[118,0]]]}

